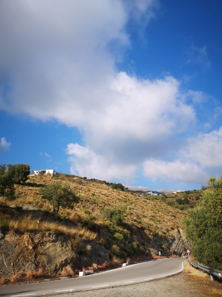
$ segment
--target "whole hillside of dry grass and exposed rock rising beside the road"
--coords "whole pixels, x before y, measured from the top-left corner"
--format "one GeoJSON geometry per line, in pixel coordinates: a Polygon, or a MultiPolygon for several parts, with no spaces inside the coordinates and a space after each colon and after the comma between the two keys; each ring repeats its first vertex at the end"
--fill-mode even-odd
{"type": "Polygon", "coordinates": [[[0,198],[1,285],[46,275],[74,276],[83,267],[105,269],[121,265],[118,258],[143,260],[157,257],[159,251],[162,256],[181,256],[188,247],[180,227],[186,211],[154,197],[112,189],[102,181],[66,174],[35,176],[16,185],[16,195],[7,203],[0,198]],[[40,193],[57,180],[74,188],[80,202],[73,210],[60,208],[54,217],[40,193]],[[125,209],[119,225],[104,214],[104,208],[113,206],[125,209]]]}

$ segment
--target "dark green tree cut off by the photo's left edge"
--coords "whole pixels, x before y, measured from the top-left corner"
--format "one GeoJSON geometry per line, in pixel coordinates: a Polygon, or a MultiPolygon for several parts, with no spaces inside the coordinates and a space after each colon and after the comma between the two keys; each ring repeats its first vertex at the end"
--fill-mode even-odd
{"type": "Polygon", "coordinates": [[[9,172],[6,164],[0,164],[0,195],[7,200],[15,200],[13,175],[9,172]]]}

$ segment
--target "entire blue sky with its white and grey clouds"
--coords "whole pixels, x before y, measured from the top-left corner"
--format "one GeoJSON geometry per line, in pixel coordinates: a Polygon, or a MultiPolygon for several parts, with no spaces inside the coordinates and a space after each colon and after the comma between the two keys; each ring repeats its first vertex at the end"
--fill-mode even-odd
{"type": "Polygon", "coordinates": [[[154,190],[220,175],[221,10],[2,0],[0,163],[154,190]]]}

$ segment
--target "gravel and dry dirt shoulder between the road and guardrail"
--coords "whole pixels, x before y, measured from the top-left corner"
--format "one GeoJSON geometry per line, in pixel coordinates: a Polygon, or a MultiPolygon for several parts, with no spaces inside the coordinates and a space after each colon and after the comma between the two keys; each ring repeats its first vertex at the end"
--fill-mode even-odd
{"type": "Polygon", "coordinates": [[[222,296],[222,284],[192,279],[184,272],[150,282],[87,292],[59,294],[58,297],[216,297],[222,296]]]}

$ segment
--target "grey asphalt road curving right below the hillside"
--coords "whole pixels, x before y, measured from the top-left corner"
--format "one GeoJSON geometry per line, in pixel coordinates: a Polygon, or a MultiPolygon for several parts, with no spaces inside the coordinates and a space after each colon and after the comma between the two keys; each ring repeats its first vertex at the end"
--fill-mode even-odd
{"type": "Polygon", "coordinates": [[[146,282],[181,272],[184,262],[185,258],[161,259],[121,267],[85,277],[0,287],[0,297],[35,297],[146,282]]]}

